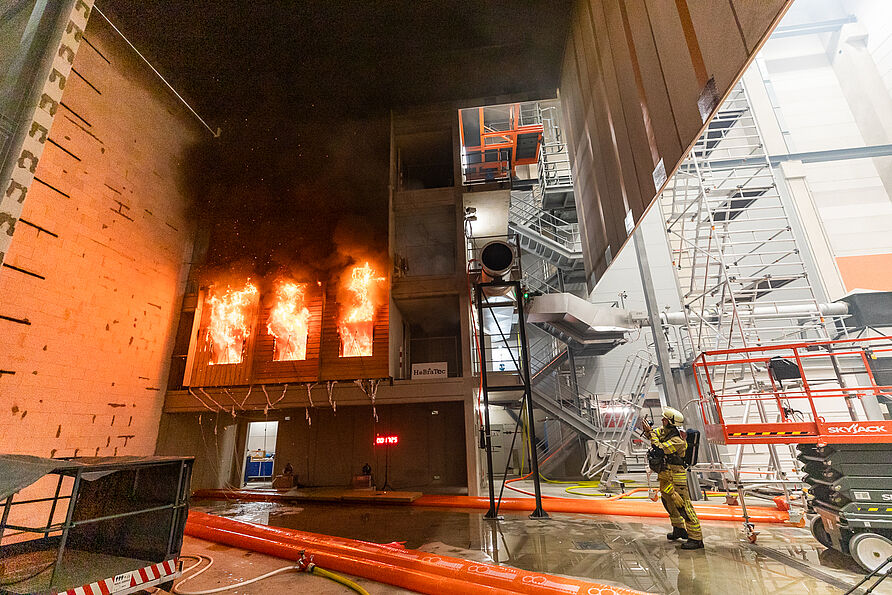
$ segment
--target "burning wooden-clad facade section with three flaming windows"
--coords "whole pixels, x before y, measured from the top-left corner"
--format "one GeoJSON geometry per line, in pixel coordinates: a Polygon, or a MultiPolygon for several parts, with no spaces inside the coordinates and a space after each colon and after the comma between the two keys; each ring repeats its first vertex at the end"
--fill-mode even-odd
{"type": "Polygon", "coordinates": [[[343,281],[279,277],[208,285],[199,295],[184,386],[388,375],[386,278],[369,262],[343,281]]]}

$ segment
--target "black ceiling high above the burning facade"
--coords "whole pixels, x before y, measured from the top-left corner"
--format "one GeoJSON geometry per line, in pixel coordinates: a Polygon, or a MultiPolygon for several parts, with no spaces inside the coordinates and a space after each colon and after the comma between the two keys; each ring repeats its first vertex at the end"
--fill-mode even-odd
{"type": "Polygon", "coordinates": [[[572,1],[98,5],[210,120],[229,120],[260,103],[313,119],[553,92],[572,1]]]}

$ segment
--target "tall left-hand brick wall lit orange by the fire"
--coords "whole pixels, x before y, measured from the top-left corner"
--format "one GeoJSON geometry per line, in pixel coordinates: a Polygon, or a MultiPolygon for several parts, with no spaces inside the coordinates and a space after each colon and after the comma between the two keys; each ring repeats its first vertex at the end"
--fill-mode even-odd
{"type": "Polygon", "coordinates": [[[0,452],[149,455],[200,130],[95,15],[0,268],[0,452]]]}

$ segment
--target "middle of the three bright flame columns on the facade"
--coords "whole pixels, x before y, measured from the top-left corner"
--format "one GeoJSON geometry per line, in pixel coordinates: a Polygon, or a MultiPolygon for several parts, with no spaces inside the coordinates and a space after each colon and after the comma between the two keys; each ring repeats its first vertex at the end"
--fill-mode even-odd
{"type": "Polygon", "coordinates": [[[269,313],[266,328],[276,338],[273,360],[277,362],[307,359],[307,328],[310,310],[306,306],[307,286],[303,283],[279,283],[276,305],[269,313]]]}

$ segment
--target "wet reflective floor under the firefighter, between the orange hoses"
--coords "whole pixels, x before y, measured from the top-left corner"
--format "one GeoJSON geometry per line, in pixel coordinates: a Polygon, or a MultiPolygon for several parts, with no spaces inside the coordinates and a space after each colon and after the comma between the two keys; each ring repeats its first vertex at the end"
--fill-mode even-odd
{"type": "MultiPolygon", "coordinates": [[[[666,540],[668,522],[636,517],[556,514],[534,521],[506,513],[490,522],[482,511],[411,506],[197,501],[193,508],[653,593],[839,594],[863,576],[807,529],[780,525],[760,527],[752,545],[737,523],[704,522],[706,550],[689,552],[666,540]]],[[[874,592],[892,594],[892,578],[874,592]]]]}

